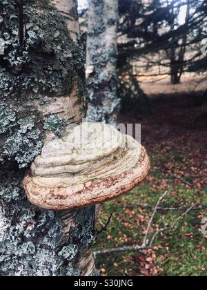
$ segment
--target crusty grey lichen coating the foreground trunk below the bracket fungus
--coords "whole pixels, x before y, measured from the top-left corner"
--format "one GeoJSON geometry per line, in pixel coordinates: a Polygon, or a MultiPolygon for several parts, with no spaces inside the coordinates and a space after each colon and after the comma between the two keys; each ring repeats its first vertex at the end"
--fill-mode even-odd
{"type": "Polygon", "coordinates": [[[76,258],[93,240],[92,209],[79,210],[79,233],[72,231],[66,244],[61,215],[32,208],[23,175],[0,170],[0,276],[79,276],[76,258]]]}

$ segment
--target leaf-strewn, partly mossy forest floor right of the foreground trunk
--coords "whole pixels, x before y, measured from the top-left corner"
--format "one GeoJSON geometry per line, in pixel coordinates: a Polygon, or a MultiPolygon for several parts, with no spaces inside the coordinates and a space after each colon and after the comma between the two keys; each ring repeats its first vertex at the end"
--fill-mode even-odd
{"type": "MultiPolygon", "coordinates": [[[[142,144],[150,155],[152,169],[141,186],[118,200],[101,206],[103,224],[113,213],[107,231],[101,233],[95,250],[141,245],[153,208],[168,187],[161,206],[207,205],[207,103],[198,104],[196,94],[150,97],[152,114],[120,116],[124,123],[141,123],[142,144]],[[138,205],[137,205],[138,204],[138,205]]],[[[150,228],[172,224],[184,211],[159,211],[150,228]]],[[[97,256],[102,276],[207,276],[207,235],[201,220],[207,210],[190,211],[175,231],[157,237],[155,249],[97,256]]],[[[101,228],[99,222],[97,227],[101,228]]]]}

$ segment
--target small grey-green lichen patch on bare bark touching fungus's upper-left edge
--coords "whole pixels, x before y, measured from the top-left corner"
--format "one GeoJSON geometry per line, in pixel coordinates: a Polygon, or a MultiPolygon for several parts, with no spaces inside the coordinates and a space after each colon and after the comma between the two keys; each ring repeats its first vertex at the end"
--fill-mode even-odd
{"type": "Polygon", "coordinates": [[[66,126],[66,122],[59,119],[55,115],[50,115],[44,122],[43,128],[47,131],[52,131],[57,136],[60,136],[63,128],[66,126]]]}

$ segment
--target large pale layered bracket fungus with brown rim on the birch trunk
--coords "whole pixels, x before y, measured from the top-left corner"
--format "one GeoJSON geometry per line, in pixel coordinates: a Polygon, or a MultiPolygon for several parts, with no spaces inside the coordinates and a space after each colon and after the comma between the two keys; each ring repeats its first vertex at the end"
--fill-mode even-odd
{"type": "Polygon", "coordinates": [[[70,210],[112,200],[148,175],[150,160],[114,126],[84,122],[46,142],[23,181],[32,204],[70,210]]]}

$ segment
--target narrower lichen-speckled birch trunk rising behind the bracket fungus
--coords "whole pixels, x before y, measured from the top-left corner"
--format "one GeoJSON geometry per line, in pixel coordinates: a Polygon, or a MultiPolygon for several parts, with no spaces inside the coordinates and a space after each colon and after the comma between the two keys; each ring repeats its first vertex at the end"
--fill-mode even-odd
{"type": "Polygon", "coordinates": [[[117,98],[118,0],[90,0],[86,78],[90,104],[88,119],[113,122],[117,98]]]}

